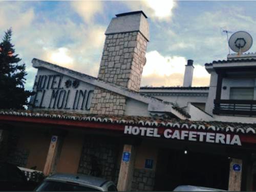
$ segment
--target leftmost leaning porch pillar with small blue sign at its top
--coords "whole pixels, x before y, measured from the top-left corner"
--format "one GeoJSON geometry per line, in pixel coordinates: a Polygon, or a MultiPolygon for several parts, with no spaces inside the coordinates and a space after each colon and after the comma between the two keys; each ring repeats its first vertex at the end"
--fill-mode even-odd
{"type": "Polygon", "coordinates": [[[61,150],[60,142],[61,138],[59,136],[52,136],[43,172],[46,176],[56,171],[57,159],[61,150]]]}

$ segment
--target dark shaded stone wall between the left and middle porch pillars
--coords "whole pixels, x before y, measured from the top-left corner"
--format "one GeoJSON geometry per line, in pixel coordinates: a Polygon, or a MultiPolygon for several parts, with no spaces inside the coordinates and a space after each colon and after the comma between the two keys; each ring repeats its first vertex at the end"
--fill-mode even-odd
{"type": "Polygon", "coordinates": [[[117,182],[119,144],[112,138],[87,136],[79,163],[78,173],[102,177],[117,182]]]}

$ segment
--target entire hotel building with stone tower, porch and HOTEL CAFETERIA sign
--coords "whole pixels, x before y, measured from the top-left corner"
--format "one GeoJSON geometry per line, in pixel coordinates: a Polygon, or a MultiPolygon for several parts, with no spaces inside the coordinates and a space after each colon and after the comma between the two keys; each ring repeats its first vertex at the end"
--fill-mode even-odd
{"type": "Polygon", "coordinates": [[[119,190],[256,190],[256,54],[206,63],[209,87],[191,87],[193,60],[183,87],[140,87],[147,19],[137,11],[111,20],[98,77],[34,58],[30,109],[0,111],[1,158],[45,175],[110,179],[119,190]]]}

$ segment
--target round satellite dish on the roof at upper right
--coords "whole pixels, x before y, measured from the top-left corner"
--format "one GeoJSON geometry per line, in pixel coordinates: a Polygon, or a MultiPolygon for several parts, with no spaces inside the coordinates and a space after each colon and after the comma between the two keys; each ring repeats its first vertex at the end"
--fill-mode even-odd
{"type": "Polygon", "coordinates": [[[252,37],[245,31],[238,31],[230,36],[228,45],[231,50],[240,54],[251,48],[252,37]]]}

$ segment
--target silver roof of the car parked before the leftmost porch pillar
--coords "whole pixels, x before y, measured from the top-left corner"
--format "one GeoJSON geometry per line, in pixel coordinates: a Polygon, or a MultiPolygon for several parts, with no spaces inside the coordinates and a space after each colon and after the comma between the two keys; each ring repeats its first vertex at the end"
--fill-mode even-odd
{"type": "Polygon", "coordinates": [[[108,182],[109,180],[83,175],[83,174],[54,174],[46,180],[58,180],[58,181],[69,181],[69,182],[75,182],[80,183],[84,185],[93,185],[97,187],[102,187],[104,183],[108,182]]]}

